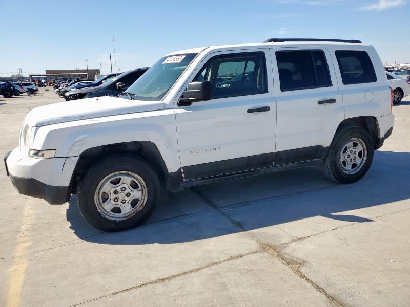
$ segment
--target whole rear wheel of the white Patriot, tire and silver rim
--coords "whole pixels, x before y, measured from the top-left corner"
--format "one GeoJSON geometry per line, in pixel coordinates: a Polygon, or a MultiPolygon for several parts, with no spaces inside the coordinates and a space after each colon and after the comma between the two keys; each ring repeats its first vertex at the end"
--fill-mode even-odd
{"type": "Polygon", "coordinates": [[[373,161],[371,136],[361,127],[346,127],[337,131],[322,162],[324,175],[339,183],[360,180],[373,161]]]}

